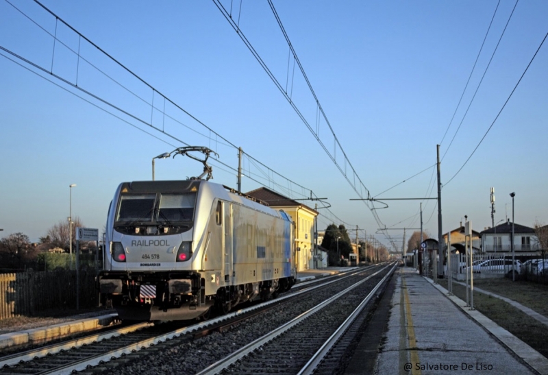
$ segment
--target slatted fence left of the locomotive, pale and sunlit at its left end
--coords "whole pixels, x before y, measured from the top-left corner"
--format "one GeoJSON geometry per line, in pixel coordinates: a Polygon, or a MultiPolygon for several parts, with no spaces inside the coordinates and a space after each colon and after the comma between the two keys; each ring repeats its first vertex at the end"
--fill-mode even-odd
{"type": "MultiPolygon", "coordinates": [[[[79,307],[98,306],[95,270],[79,271],[79,307]]],[[[76,308],[76,271],[0,274],[0,319],[76,308]]]]}

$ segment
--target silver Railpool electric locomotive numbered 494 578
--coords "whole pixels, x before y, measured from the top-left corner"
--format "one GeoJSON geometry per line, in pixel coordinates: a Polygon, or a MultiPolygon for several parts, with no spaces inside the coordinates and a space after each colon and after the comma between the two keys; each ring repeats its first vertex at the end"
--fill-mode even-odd
{"type": "Polygon", "coordinates": [[[101,298],[121,319],[230,311],[295,284],[294,226],[206,180],[123,182],[108,213],[101,298]]]}

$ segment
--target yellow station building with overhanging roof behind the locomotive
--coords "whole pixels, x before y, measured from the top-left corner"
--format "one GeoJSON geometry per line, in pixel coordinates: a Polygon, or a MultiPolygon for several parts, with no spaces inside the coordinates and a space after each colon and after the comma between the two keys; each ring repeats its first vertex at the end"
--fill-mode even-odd
{"type": "Polygon", "coordinates": [[[297,271],[314,269],[314,220],[318,212],[288,197],[265,187],[245,193],[260,199],[272,208],[284,210],[295,223],[295,266],[297,271]]]}

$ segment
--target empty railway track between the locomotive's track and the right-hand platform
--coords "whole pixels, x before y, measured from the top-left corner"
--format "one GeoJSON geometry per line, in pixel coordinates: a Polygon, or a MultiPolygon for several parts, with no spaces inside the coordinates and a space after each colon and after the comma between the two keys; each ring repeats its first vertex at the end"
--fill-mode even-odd
{"type": "Polygon", "coordinates": [[[321,369],[332,374],[329,358],[338,359],[345,352],[354,336],[348,335],[343,343],[341,338],[349,328],[356,332],[363,323],[364,316],[358,317],[364,306],[393,269],[373,286],[368,281],[381,274],[380,269],[198,374],[258,374],[265,369],[280,374],[312,374],[321,369]]]}

